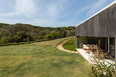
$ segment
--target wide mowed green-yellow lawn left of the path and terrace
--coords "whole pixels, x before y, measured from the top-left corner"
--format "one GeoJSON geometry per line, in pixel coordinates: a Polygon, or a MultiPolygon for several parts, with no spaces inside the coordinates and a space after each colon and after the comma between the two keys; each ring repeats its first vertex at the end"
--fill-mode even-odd
{"type": "Polygon", "coordinates": [[[90,64],[59,50],[62,40],[0,47],[0,77],[88,77],[90,64]]]}

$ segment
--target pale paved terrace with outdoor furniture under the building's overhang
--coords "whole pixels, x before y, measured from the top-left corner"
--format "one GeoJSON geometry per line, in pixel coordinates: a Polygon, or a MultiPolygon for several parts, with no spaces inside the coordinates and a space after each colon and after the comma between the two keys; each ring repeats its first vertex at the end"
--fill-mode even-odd
{"type": "Polygon", "coordinates": [[[109,55],[107,52],[102,51],[98,45],[83,45],[83,48],[76,48],[78,52],[90,63],[95,64],[93,57],[101,62],[105,61],[108,66],[109,63],[114,64],[115,59],[109,55]]]}

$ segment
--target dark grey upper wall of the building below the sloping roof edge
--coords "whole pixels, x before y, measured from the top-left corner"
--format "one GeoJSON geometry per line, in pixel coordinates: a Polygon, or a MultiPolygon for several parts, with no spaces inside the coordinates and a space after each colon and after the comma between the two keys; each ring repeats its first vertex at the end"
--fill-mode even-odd
{"type": "Polygon", "coordinates": [[[77,26],[75,35],[116,37],[116,3],[77,26]]]}

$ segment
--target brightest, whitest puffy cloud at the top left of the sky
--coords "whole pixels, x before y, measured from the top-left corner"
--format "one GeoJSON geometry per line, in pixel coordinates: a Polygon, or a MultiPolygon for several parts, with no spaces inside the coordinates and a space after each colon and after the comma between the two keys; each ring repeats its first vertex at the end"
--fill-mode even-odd
{"type": "Polygon", "coordinates": [[[31,15],[36,12],[36,4],[34,0],[15,0],[15,1],[16,1],[15,6],[16,11],[19,11],[28,17],[31,17],[31,15]]]}

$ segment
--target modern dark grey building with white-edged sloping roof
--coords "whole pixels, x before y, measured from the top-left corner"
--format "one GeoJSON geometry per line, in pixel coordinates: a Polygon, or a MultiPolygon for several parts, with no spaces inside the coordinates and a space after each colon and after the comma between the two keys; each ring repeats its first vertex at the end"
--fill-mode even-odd
{"type": "Polygon", "coordinates": [[[75,36],[76,48],[78,37],[101,37],[102,48],[115,58],[116,63],[116,1],[76,26],[75,36]]]}

